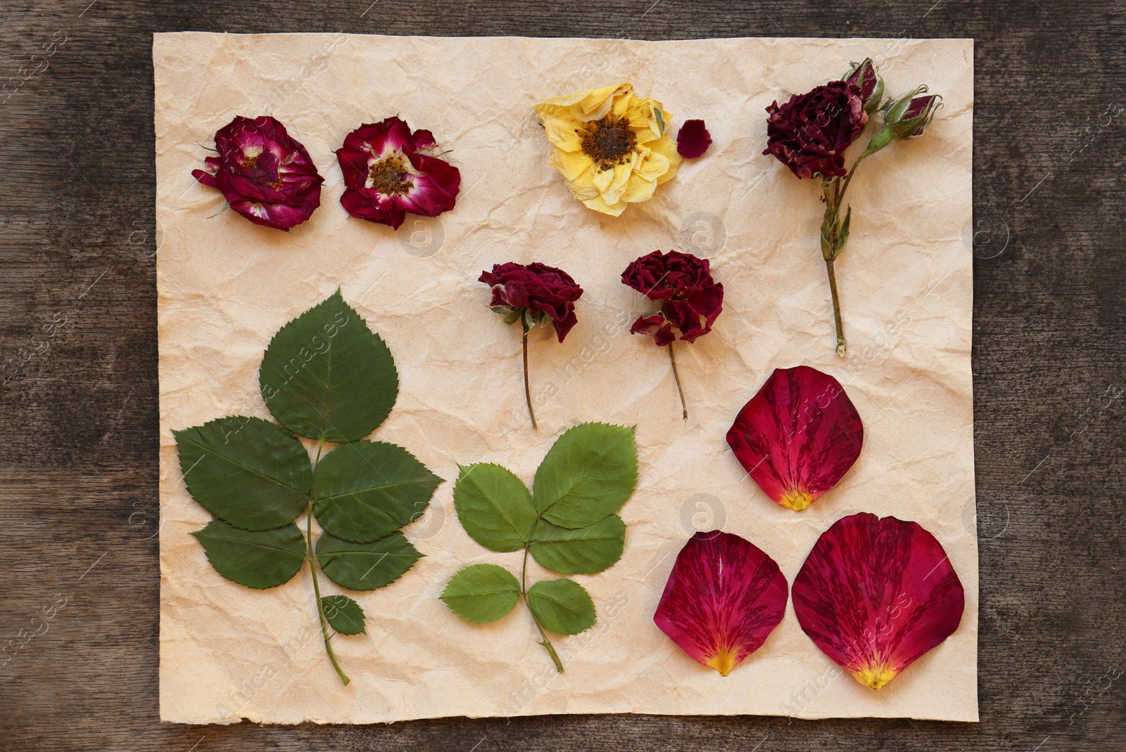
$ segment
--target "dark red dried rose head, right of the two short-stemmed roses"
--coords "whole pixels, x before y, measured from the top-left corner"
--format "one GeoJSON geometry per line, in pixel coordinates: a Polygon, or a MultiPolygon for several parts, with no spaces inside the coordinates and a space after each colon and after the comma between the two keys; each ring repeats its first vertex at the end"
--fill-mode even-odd
{"type": "Polygon", "coordinates": [[[658,313],[642,316],[629,330],[651,335],[658,346],[677,339],[673,329],[681,340],[695,341],[712,331],[723,311],[723,285],[712,279],[708,260],[691,253],[653,251],[626,267],[622,283],[661,301],[658,313]]]}

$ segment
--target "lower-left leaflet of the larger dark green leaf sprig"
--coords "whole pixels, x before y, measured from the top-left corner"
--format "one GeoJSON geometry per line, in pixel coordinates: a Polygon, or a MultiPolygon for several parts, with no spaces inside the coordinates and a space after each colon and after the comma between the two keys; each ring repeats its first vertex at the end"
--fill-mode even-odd
{"type": "Polygon", "coordinates": [[[232,582],[266,590],[285,584],[305,563],[305,537],[296,525],[274,530],[241,530],[212,520],[193,532],[215,571],[232,582]]]}

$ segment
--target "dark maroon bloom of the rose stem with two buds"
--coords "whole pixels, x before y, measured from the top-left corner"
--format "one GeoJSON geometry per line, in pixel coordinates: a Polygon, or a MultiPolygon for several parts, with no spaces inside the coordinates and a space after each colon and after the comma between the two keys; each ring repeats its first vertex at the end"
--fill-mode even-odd
{"type": "Polygon", "coordinates": [[[785,105],[767,107],[767,149],[798,178],[843,176],[844,150],[864,132],[868,114],[860,89],[830,81],[785,105]]]}

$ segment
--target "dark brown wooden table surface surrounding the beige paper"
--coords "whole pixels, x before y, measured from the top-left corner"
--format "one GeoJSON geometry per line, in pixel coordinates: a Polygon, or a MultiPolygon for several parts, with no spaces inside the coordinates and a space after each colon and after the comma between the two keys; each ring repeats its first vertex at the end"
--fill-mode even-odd
{"type": "Polygon", "coordinates": [[[0,37],[0,749],[1126,750],[1120,0],[6,0],[0,37]],[[169,30],[974,37],[981,723],[161,724],[151,34],[169,30]]]}

